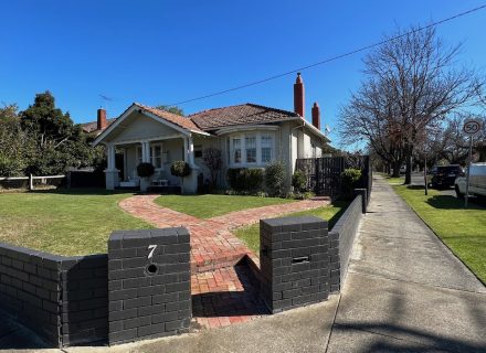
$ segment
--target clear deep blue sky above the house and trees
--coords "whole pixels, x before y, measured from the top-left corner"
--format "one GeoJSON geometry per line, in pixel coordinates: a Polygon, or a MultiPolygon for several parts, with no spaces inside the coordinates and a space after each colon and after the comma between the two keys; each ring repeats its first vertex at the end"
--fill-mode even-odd
{"type": "MultiPolygon", "coordinates": [[[[326,60],[483,1],[0,0],[0,103],[25,109],[51,90],[75,122],[133,101],[173,104],[326,60]],[[104,101],[99,95],[110,97],[104,101]]],[[[464,42],[459,63],[486,68],[486,9],[437,28],[464,42]]],[[[306,111],[317,100],[335,128],[362,79],[366,53],[303,72],[306,111]]],[[[295,75],[181,105],[186,114],[256,103],[293,110],[295,75]]],[[[309,116],[309,114],[307,114],[309,116]]],[[[338,146],[338,137],[331,133],[338,146]]]]}

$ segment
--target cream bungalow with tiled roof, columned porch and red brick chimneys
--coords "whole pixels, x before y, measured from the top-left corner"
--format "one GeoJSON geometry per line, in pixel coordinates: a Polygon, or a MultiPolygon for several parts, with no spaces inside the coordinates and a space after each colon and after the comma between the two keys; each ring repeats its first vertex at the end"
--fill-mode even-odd
{"type": "Polygon", "coordinates": [[[94,146],[107,147],[106,189],[138,185],[136,168],[140,162],[151,162],[156,168],[150,181],[141,180],[142,189],[147,182],[179,184],[179,179],[170,174],[170,165],[184,160],[192,170],[184,179],[184,192],[193,193],[198,180],[209,178],[202,161],[202,150],[208,147],[222,151],[222,185],[229,168],[264,168],[272,160],[283,161],[292,175],[298,158],[320,157],[329,142],[320,131],[317,103],[311,108],[311,122],[305,119],[300,74],[294,84],[294,108],[295,111],[286,111],[247,103],[182,117],[134,103],[112,124],[101,109],[97,129],[92,132],[98,133],[94,146]],[[123,157],[117,157],[119,152],[123,157]]]}

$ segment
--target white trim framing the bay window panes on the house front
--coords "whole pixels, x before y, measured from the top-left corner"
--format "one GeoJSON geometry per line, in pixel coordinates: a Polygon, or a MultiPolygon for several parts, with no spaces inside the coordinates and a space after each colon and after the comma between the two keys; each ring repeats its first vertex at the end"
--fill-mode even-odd
{"type": "Polygon", "coordinates": [[[230,168],[260,168],[265,167],[268,162],[262,161],[262,136],[272,137],[272,160],[275,159],[275,133],[273,131],[247,131],[247,132],[239,132],[231,133],[229,136],[230,141],[230,168]],[[254,136],[256,138],[256,162],[246,162],[246,142],[245,138],[254,136]],[[240,149],[241,149],[241,162],[234,162],[234,148],[233,148],[233,138],[240,139],[240,149]]]}

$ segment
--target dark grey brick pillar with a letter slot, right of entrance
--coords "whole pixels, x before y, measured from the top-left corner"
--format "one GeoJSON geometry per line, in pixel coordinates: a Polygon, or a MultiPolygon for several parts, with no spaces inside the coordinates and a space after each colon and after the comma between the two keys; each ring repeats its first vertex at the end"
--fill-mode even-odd
{"type": "Polygon", "coordinates": [[[261,292],[275,313],[327,299],[327,221],[315,216],[260,221],[261,292]]]}

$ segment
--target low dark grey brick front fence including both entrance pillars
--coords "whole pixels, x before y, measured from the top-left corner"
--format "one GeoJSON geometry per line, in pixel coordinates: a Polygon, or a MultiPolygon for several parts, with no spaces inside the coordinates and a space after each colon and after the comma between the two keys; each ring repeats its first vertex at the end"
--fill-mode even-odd
{"type": "MultiPolygon", "coordinates": [[[[261,270],[246,264],[271,312],[340,290],[367,204],[367,192],[357,190],[331,231],[310,216],[261,221],[261,270]]],[[[74,257],[0,244],[0,310],[60,347],[184,332],[189,238],[182,227],[120,231],[108,254],[74,257]]]]}

